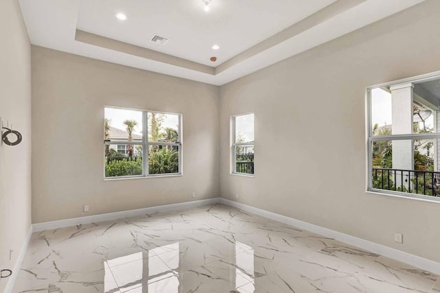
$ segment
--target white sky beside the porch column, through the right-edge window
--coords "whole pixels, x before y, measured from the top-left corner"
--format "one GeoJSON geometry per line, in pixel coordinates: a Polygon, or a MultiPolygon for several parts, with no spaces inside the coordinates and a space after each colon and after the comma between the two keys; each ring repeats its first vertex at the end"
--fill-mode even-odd
{"type": "MultiPolygon", "coordinates": [[[[391,93],[382,89],[373,89],[371,91],[371,121],[373,126],[379,127],[386,124],[391,125],[391,93]]],[[[425,121],[427,128],[432,128],[434,124],[434,115],[430,115],[425,121]]],[[[420,125],[423,128],[423,124],[420,125]]]]}

